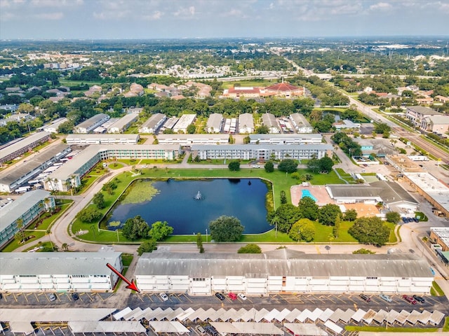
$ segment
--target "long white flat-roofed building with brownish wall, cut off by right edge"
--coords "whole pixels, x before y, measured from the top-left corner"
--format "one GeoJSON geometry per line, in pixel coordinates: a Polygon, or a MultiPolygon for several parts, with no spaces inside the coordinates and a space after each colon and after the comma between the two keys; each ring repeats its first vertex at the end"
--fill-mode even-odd
{"type": "Polygon", "coordinates": [[[449,217],[449,188],[427,172],[404,172],[404,179],[434,206],[437,216],[449,217]]]}

